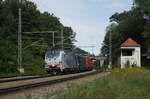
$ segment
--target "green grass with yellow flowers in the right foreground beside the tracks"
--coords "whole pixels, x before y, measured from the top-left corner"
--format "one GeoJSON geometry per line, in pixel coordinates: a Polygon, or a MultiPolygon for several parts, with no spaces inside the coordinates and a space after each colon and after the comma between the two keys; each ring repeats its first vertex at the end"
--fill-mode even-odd
{"type": "Polygon", "coordinates": [[[56,95],[59,99],[150,99],[150,70],[114,69],[106,77],[69,85],[56,95]]]}

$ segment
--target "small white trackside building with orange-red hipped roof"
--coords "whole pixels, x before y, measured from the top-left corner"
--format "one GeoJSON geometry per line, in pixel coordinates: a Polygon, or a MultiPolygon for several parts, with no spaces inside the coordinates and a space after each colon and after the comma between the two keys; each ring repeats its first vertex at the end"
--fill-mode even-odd
{"type": "Polygon", "coordinates": [[[133,66],[141,67],[141,46],[128,38],[121,44],[121,68],[133,66]]]}

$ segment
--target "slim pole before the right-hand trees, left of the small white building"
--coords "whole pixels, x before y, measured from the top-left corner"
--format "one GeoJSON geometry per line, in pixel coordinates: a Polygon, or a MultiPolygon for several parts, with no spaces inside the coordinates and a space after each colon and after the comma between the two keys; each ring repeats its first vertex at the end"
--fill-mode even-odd
{"type": "Polygon", "coordinates": [[[112,41],[111,41],[111,31],[109,32],[109,65],[108,68],[112,68],[112,41]]]}

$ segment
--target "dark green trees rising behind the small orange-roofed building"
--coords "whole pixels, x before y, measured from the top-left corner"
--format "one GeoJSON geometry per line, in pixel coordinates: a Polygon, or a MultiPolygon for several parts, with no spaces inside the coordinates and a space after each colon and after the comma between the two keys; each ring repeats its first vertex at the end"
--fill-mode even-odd
{"type": "Polygon", "coordinates": [[[129,37],[141,44],[142,53],[150,47],[150,0],[133,0],[131,10],[110,17],[101,54],[109,56],[109,34],[112,37],[112,62],[118,66],[120,45],[129,37]]]}

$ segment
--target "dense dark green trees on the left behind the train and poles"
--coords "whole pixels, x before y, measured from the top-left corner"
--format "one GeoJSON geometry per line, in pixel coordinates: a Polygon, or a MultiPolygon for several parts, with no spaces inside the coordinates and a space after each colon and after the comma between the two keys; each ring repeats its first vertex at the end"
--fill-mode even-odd
{"type": "Polygon", "coordinates": [[[72,48],[75,33],[71,27],[63,26],[59,18],[48,12],[40,12],[36,4],[28,0],[0,0],[0,75],[17,73],[18,55],[18,8],[22,8],[22,32],[58,31],[55,47],[52,34],[22,34],[22,64],[28,73],[44,71],[44,54],[51,49],[60,49],[61,32],[64,49],[72,48]],[[36,42],[41,40],[39,42],[36,42]],[[36,43],[33,43],[36,42],[36,43]]]}

